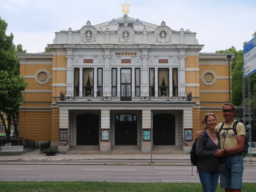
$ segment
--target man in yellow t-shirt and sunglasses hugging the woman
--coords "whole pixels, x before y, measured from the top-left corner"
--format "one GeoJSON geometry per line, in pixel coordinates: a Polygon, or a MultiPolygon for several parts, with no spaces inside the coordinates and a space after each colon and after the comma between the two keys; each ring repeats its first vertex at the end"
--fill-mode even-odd
{"type": "MultiPolygon", "coordinates": [[[[232,103],[225,103],[222,105],[223,117],[225,123],[220,131],[220,146],[221,149],[216,150],[214,156],[222,157],[223,161],[220,163],[220,187],[225,188],[225,192],[241,192],[242,176],[244,171],[243,154],[245,141],[245,128],[239,122],[236,125],[237,135],[232,130],[235,114],[235,106],[232,103]]],[[[219,132],[222,123],[215,127],[215,131],[219,132]]],[[[198,137],[201,137],[202,131],[196,132],[198,137]]]]}

